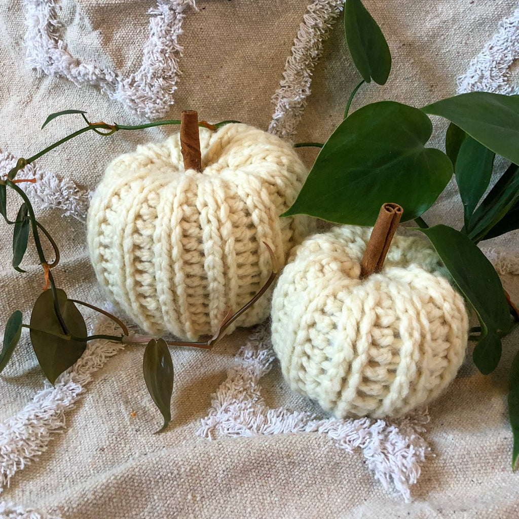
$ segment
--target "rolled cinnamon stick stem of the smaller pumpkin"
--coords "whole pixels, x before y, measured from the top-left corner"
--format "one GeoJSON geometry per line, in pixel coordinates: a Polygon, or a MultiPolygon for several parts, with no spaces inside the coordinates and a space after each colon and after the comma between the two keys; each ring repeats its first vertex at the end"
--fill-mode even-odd
{"type": "Polygon", "coordinates": [[[388,253],[389,245],[397,230],[404,210],[398,203],[385,203],[380,208],[373,227],[370,241],[360,264],[360,277],[366,278],[373,272],[380,272],[388,253]]]}

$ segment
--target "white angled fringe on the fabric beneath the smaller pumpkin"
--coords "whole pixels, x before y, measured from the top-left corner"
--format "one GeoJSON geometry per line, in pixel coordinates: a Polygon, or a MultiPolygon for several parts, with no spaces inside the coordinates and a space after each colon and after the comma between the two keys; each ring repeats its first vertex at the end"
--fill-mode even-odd
{"type": "Polygon", "coordinates": [[[269,329],[260,327],[240,349],[227,379],[212,395],[209,414],[202,419],[197,434],[209,439],[216,431],[233,437],[294,432],[327,434],[347,452],[360,448],[375,479],[386,490],[394,488],[409,501],[409,486],[416,483],[420,465],[429,453],[420,435],[429,421],[427,409],[392,422],[370,418],[318,419],[309,413],[270,409],[261,397],[259,381],[270,371],[274,359],[269,329]]]}

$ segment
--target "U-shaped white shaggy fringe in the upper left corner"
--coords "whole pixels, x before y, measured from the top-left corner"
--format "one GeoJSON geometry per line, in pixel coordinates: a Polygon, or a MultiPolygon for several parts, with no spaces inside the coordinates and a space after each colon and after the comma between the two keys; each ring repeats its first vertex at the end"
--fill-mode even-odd
{"type": "Polygon", "coordinates": [[[179,36],[188,7],[194,0],[157,0],[148,11],[149,38],[144,45],[140,69],[127,79],[108,68],[73,57],[61,39],[58,18],[60,0],[24,0],[27,10],[25,34],[28,65],[40,74],[64,76],[75,85],[93,85],[132,113],[148,119],[165,116],[173,104],[173,92],[181,75],[183,47],[179,36]]]}

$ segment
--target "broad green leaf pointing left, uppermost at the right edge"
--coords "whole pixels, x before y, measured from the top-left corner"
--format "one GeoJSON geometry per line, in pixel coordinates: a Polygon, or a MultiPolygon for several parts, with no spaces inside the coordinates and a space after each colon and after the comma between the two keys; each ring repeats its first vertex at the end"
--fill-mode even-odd
{"type": "Polygon", "coordinates": [[[494,153],[519,163],[519,95],[469,92],[422,110],[445,117],[494,153]]]}

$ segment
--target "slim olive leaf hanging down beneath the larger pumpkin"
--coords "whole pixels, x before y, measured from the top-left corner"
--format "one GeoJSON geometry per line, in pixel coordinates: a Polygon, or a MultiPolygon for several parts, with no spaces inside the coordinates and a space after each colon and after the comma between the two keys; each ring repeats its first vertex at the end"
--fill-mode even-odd
{"type": "Polygon", "coordinates": [[[152,339],[146,346],[143,360],[144,381],[155,405],[164,417],[165,430],[171,421],[171,395],[173,393],[173,361],[164,339],[152,339]]]}

